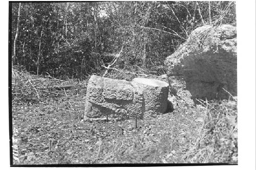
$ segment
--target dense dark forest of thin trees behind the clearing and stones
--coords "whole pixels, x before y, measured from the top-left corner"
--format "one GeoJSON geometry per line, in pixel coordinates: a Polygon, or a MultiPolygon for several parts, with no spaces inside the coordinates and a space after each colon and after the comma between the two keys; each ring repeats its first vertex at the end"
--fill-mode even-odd
{"type": "Polygon", "coordinates": [[[191,31],[236,25],[234,2],[10,3],[10,9],[12,65],[60,79],[101,75],[117,54],[117,70],[165,74],[165,58],[191,31]]]}

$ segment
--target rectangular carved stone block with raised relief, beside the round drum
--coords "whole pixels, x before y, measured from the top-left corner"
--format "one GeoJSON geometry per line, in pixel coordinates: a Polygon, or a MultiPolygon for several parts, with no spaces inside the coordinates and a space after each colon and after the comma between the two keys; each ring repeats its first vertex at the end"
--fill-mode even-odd
{"type": "Polygon", "coordinates": [[[85,104],[85,118],[98,118],[115,115],[129,119],[143,117],[143,94],[139,86],[132,86],[124,80],[102,78],[92,75],[88,86],[85,104]]]}

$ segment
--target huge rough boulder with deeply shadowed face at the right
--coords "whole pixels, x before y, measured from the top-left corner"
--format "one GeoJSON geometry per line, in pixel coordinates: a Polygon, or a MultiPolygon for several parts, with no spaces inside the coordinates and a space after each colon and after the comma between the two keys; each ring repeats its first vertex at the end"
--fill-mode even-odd
{"type": "Polygon", "coordinates": [[[165,60],[170,92],[191,99],[237,95],[237,31],[231,25],[197,28],[165,60]]]}

